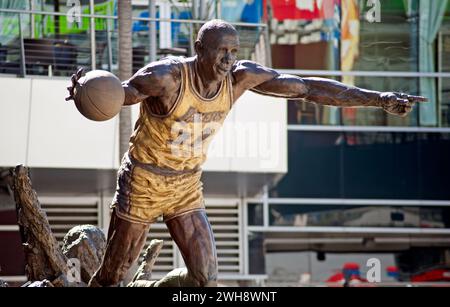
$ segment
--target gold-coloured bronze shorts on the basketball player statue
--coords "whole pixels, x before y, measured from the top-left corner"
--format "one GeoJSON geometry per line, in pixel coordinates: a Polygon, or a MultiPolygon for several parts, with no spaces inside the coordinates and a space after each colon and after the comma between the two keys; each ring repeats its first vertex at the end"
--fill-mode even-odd
{"type": "Polygon", "coordinates": [[[111,207],[120,218],[150,224],[204,210],[201,169],[180,172],[135,161],[126,153],[117,174],[111,207]]]}

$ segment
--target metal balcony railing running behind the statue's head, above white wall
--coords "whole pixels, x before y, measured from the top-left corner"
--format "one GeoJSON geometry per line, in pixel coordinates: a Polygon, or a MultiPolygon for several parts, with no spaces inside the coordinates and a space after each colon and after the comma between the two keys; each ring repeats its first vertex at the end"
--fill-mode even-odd
{"type": "MultiPolygon", "coordinates": [[[[118,17],[96,14],[77,16],[82,19],[83,25],[87,26],[70,28],[70,31],[61,33],[60,28],[58,29],[54,23],[53,32],[48,29],[45,31],[42,27],[41,33],[36,34],[37,27],[32,22],[40,20],[43,24],[44,21],[51,21],[53,18],[58,19],[58,24],[67,25],[67,14],[0,9],[0,18],[7,21],[3,25],[6,23],[9,26],[9,28],[4,26],[0,30],[3,32],[0,36],[0,73],[19,76],[70,76],[78,67],[117,72],[118,17]]],[[[206,20],[151,17],[133,17],[132,20],[133,71],[151,62],[152,49],[156,49],[157,58],[167,55],[193,55],[194,33],[206,22],[206,20]],[[157,31],[152,33],[149,24],[153,23],[156,23],[157,31]],[[162,31],[164,27],[165,31],[162,31]]],[[[266,24],[239,22],[232,24],[240,33],[240,59],[255,59],[255,53],[261,54],[261,50],[265,50],[262,58],[264,61],[270,61],[270,48],[267,39],[264,39],[267,37],[266,24]]]]}

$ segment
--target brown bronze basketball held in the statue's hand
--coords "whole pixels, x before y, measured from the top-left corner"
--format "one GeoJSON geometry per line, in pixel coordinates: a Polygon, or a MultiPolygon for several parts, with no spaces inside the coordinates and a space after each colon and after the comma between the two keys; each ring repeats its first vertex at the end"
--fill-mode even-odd
{"type": "Polygon", "coordinates": [[[75,105],[90,120],[113,118],[120,112],[124,100],[125,92],[119,78],[109,71],[90,71],[75,86],[75,105]]]}

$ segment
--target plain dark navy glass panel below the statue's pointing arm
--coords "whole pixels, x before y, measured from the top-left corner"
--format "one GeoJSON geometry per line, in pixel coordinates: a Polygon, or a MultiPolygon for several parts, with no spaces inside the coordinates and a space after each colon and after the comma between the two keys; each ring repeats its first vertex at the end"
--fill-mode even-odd
{"type": "Polygon", "coordinates": [[[290,131],[288,142],[271,197],[450,199],[450,134],[290,131]]]}

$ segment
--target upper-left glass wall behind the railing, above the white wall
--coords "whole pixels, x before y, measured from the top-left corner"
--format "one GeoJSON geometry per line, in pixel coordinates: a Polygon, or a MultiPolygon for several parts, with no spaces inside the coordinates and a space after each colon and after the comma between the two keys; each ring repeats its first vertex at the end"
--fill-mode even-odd
{"type": "MultiPolygon", "coordinates": [[[[210,20],[216,18],[219,13],[218,0],[207,1],[205,14],[194,10],[191,1],[156,1],[155,3],[156,18],[164,19],[164,21],[155,22],[156,59],[169,55],[193,55],[193,41],[202,21],[192,23],[192,19],[210,20]],[[168,21],[170,19],[181,19],[187,22],[168,21]]],[[[224,3],[224,13],[232,11],[233,3],[236,4],[234,1],[224,3]]],[[[117,73],[118,23],[116,19],[106,16],[117,16],[118,1],[94,1],[94,13],[99,16],[94,18],[95,42],[91,40],[90,18],[81,17],[78,20],[75,15],[89,14],[89,1],[81,1],[80,7],[74,7],[74,4],[75,2],[71,4],[65,0],[1,1],[0,73],[70,76],[77,67],[84,67],[86,70],[95,67],[117,73]],[[12,13],[5,9],[17,9],[22,12],[12,13]],[[44,13],[31,14],[30,10],[44,13]],[[94,48],[91,48],[92,46],[94,48]]],[[[149,17],[148,2],[133,1],[132,4],[132,45],[130,47],[133,71],[136,72],[150,62],[151,40],[149,22],[145,20],[149,17]]],[[[197,5],[200,6],[199,2],[197,5]]],[[[254,1],[252,5],[242,6],[239,18],[230,17],[229,21],[257,23],[261,21],[261,18],[262,0],[254,1]],[[259,13],[253,14],[253,9],[259,13]]],[[[268,58],[264,45],[267,42],[264,40],[264,27],[246,25],[236,28],[240,33],[241,41],[238,57],[265,63],[261,60],[268,58]]]]}

